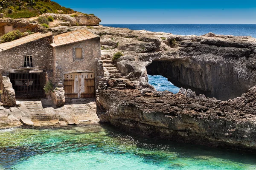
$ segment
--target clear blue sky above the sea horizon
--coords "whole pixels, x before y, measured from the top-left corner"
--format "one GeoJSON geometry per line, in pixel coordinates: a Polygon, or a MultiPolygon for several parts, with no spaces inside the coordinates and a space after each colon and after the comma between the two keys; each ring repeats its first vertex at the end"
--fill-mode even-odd
{"type": "Polygon", "coordinates": [[[101,24],[256,24],[256,0],[52,1],[95,14],[101,24]]]}

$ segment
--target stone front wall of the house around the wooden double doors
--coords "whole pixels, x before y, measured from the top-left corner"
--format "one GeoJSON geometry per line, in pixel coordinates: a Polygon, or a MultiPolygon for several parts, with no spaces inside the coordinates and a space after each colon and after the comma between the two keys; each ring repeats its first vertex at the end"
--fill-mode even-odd
{"type": "Polygon", "coordinates": [[[54,48],[54,84],[63,87],[63,74],[70,72],[93,71],[95,83],[98,86],[98,60],[100,59],[99,37],[77,42],[69,45],[62,45],[54,48]],[[83,48],[82,59],[74,58],[74,49],[83,48]]]}

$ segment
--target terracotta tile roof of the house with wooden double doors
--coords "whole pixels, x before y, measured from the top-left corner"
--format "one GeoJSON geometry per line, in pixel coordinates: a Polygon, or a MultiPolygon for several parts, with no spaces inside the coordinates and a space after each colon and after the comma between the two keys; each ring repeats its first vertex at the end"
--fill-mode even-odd
{"type": "Polygon", "coordinates": [[[79,29],[76,31],[67,32],[53,36],[54,42],[51,44],[52,47],[61,45],[71,44],[73,42],[84,41],[92,38],[99,37],[86,29],[79,29]]]}

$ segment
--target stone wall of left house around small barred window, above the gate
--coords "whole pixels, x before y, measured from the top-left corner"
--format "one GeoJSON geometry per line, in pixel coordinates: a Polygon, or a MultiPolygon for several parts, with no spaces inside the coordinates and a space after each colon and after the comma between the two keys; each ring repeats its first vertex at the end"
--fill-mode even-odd
{"type": "Polygon", "coordinates": [[[34,69],[44,69],[51,76],[53,67],[52,35],[0,52],[0,69],[3,75],[24,68],[24,57],[32,56],[34,69]]]}

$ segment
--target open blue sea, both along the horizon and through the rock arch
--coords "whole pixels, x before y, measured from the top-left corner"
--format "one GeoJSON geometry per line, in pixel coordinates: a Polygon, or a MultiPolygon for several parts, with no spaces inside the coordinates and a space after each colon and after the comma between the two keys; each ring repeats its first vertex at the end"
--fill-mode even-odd
{"type": "MultiPolygon", "coordinates": [[[[222,35],[251,36],[256,38],[256,24],[103,24],[103,26],[167,32],[177,35],[204,35],[209,32],[222,35]]],[[[148,75],[148,83],[158,91],[177,93],[179,88],[163,76],[148,75]]]]}

